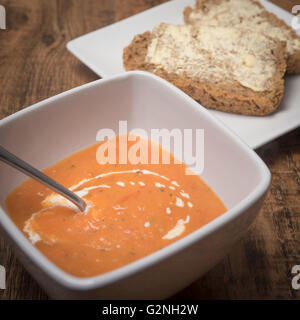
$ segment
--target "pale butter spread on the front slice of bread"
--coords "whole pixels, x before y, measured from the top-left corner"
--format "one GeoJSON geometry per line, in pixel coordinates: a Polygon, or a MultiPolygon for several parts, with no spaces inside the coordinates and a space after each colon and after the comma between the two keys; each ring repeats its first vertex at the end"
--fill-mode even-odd
{"type": "Polygon", "coordinates": [[[263,34],[223,28],[160,24],[152,32],[146,62],[199,80],[236,80],[254,91],[270,88],[276,42],[263,34]]]}

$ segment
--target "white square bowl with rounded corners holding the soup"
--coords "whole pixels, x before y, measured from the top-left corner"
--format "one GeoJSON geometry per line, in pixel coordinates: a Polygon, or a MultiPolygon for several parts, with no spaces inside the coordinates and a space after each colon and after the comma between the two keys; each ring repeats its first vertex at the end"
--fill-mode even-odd
{"type": "Polygon", "coordinates": [[[25,177],[0,163],[0,230],[52,298],[163,299],[186,287],[250,226],[270,184],[263,161],[205,108],[146,72],[128,72],[59,94],[0,121],[0,144],[44,169],[88,145],[97,131],[128,127],[204,129],[201,177],[228,211],[185,238],[115,271],[77,278],[43,256],[11,221],[5,198],[25,177]]]}

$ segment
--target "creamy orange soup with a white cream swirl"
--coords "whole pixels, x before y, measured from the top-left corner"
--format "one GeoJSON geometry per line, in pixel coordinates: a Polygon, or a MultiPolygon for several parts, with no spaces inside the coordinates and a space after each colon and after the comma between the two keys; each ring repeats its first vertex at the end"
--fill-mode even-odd
{"type": "Polygon", "coordinates": [[[226,211],[197,175],[186,175],[184,164],[174,164],[172,155],[171,164],[99,165],[98,147],[44,170],[83,197],[85,212],[32,179],[6,199],[18,228],[66,272],[89,277],[120,268],[226,211]]]}

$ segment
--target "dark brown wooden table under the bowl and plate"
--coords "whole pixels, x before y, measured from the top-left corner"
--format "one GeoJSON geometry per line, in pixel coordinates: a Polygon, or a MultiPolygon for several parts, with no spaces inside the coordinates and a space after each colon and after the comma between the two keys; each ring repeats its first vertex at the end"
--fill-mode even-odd
{"type": "MultiPolygon", "coordinates": [[[[1,1],[7,30],[0,30],[0,117],[98,79],[66,50],[66,43],[162,2],[1,1]]],[[[289,11],[297,3],[274,2],[289,11]]],[[[300,290],[291,287],[291,269],[300,264],[300,129],[257,152],[273,174],[259,217],[222,262],[176,298],[300,298],[300,290]]],[[[0,264],[7,269],[7,289],[0,290],[0,299],[47,299],[1,237],[0,264]]]]}

